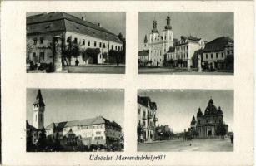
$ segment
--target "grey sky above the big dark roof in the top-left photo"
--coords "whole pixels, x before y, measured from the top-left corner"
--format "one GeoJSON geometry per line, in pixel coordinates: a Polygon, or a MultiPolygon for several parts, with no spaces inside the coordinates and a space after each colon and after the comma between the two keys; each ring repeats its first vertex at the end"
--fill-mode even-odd
{"type": "MultiPolygon", "coordinates": [[[[27,17],[43,12],[27,12],[27,17]]],[[[102,27],[118,35],[125,37],[126,17],[125,12],[67,12],[75,17],[85,17],[85,20],[93,23],[101,23],[102,27]]]]}

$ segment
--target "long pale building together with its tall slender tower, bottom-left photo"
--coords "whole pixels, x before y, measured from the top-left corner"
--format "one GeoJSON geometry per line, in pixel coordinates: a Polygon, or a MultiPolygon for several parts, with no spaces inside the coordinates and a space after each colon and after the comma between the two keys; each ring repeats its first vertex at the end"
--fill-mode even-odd
{"type": "MultiPolygon", "coordinates": [[[[36,101],[33,103],[33,126],[27,122],[27,137],[33,137],[33,143],[38,141],[39,134],[44,127],[45,104],[41,90],[38,90],[36,101]]],[[[119,143],[122,137],[122,127],[114,121],[102,116],[86,120],[63,121],[51,123],[45,127],[46,135],[53,139],[59,139],[64,147],[84,144],[103,144],[110,147],[119,143]]]]}

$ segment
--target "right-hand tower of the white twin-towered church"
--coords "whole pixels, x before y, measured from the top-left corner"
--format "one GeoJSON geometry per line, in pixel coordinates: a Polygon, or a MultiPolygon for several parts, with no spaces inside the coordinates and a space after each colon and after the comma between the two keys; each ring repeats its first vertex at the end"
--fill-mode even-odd
{"type": "Polygon", "coordinates": [[[166,52],[169,50],[169,47],[173,47],[173,27],[171,26],[171,18],[167,16],[166,18],[166,26],[163,30],[163,52],[166,52]]]}

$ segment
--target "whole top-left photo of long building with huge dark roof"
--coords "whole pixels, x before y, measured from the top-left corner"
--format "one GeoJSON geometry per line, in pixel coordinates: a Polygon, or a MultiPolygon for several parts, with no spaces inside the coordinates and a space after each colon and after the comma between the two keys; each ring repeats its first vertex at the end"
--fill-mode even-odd
{"type": "Polygon", "coordinates": [[[28,73],[125,73],[125,12],[27,12],[28,73]]]}

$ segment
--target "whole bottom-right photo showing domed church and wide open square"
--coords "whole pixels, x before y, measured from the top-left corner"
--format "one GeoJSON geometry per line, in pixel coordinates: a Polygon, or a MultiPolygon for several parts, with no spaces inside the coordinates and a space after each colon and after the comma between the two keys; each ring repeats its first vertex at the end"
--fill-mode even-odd
{"type": "Polygon", "coordinates": [[[233,90],[138,90],[138,151],[233,151],[233,90]]]}

